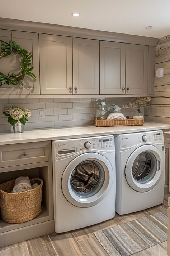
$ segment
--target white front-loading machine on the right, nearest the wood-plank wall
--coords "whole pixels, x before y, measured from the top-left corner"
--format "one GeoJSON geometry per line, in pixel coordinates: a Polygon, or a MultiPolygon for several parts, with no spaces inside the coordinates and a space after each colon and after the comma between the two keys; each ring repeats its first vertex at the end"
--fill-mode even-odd
{"type": "Polygon", "coordinates": [[[159,205],[164,198],[162,131],[115,135],[116,206],[128,214],[159,205]]]}

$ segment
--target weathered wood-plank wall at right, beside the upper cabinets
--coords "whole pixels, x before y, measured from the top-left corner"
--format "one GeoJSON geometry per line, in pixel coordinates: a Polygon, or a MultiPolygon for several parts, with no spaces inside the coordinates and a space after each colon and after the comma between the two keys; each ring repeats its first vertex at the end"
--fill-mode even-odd
{"type": "Polygon", "coordinates": [[[170,35],[160,38],[155,48],[154,95],[145,120],[170,124],[170,35]],[[156,69],[164,68],[164,76],[156,77],[156,69]]]}

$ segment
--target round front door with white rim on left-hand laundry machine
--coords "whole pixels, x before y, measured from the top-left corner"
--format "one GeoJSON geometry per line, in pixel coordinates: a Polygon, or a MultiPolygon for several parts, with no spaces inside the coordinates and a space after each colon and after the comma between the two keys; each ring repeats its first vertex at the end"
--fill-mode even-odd
{"type": "Polygon", "coordinates": [[[107,195],[113,178],[113,168],[106,157],[84,153],[74,158],[63,172],[62,192],[72,205],[94,206],[107,195]]]}

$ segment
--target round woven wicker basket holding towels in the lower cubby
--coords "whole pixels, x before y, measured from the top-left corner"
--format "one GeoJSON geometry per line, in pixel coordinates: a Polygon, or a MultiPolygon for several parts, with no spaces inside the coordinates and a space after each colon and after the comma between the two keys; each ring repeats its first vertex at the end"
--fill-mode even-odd
{"type": "Polygon", "coordinates": [[[30,179],[31,185],[39,186],[28,191],[10,193],[13,190],[15,180],[0,184],[0,209],[1,217],[8,223],[23,223],[34,219],[42,211],[42,179],[30,179]]]}

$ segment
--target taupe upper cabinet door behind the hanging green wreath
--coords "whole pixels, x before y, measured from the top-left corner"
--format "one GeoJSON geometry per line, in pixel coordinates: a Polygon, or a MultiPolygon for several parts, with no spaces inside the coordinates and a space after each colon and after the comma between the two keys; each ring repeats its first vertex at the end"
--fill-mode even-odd
{"type": "MultiPolygon", "coordinates": [[[[10,40],[10,30],[0,30],[0,39],[8,42],[10,40]]],[[[12,31],[13,41],[19,44],[22,49],[32,52],[33,73],[36,81],[30,76],[25,76],[22,80],[23,86],[4,84],[0,87],[0,95],[27,95],[39,94],[39,47],[38,34],[29,32],[12,31]]],[[[9,72],[20,72],[19,55],[11,52],[7,57],[0,59],[0,71],[6,75],[9,72]]]]}

